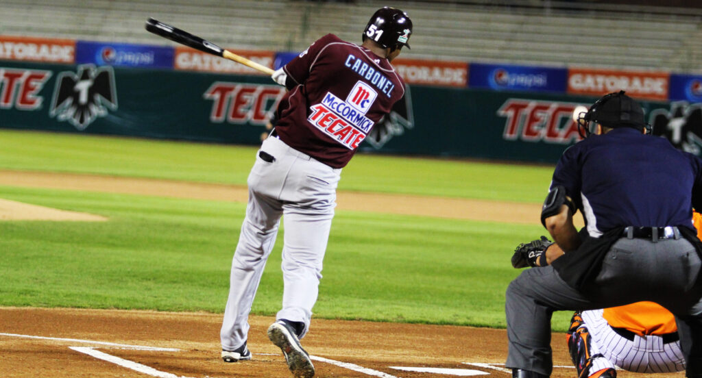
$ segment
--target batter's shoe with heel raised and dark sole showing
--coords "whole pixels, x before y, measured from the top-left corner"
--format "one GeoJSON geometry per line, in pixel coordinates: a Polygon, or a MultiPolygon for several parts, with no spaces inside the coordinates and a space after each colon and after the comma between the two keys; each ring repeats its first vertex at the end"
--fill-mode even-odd
{"type": "Polygon", "coordinates": [[[268,338],[283,351],[285,362],[296,378],[314,377],[310,355],[300,345],[295,329],[289,322],[276,320],[268,328],[268,338]]]}

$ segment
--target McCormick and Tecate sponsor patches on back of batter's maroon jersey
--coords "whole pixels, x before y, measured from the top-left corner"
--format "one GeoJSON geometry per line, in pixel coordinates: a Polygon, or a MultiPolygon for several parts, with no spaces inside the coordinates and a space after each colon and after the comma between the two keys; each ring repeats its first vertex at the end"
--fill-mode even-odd
{"type": "MultiPolygon", "coordinates": [[[[350,100],[356,99],[359,102],[369,100],[369,98],[366,98],[363,90],[357,90],[356,88],[363,87],[355,87],[355,90],[352,90],[349,95],[350,100]]],[[[370,95],[368,96],[370,97],[370,95]]],[[[370,104],[372,104],[372,101],[370,104]]],[[[370,104],[368,104],[368,107],[370,107],[370,104]]],[[[322,103],[312,105],[310,110],[312,113],[307,118],[307,121],[310,121],[319,130],[324,131],[332,139],[343,144],[347,149],[356,149],[373,126],[373,121],[332,93],[326,93],[322,103]]]]}

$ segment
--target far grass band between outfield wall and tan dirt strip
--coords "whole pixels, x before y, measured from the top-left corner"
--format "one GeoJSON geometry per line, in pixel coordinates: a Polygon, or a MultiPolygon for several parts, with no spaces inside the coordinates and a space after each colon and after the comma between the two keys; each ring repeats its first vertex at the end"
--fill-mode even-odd
{"type": "MultiPolygon", "coordinates": [[[[0,130],[0,169],[245,185],[257,147],[0,130]]],[[[541,203],[552,167],[357,154],[339,189],[541,203]]]]}

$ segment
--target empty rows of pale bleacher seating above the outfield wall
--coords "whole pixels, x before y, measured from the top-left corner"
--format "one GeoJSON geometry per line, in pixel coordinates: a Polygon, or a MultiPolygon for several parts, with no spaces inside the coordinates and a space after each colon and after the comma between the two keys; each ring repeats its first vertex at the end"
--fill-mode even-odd
{"type": "MultiPolygon", "coordinates": [[[[360,42],[385,3],[3,0],[0,34],[171,44],[145,32],[153,17],[227,48],[300,51],[329,32],[360,42]]],[[[404,58],[675,72],[699,72],[702,61],[702,11],[694,9],[462,0],[412,1],[404,10],[415,25],[404,58]]]]}

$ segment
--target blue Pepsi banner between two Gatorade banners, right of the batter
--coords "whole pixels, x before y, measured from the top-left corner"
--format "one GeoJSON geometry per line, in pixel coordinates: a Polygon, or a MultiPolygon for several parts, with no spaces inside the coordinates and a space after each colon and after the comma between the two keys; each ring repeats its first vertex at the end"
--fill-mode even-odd
{"type": "Polygon", "coordinates": [[[470,88],[564,93],[568,83],[566,68],[471,63],[469,71],[470,88]]]}

